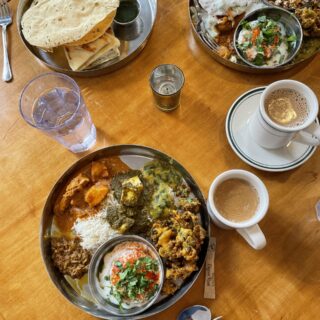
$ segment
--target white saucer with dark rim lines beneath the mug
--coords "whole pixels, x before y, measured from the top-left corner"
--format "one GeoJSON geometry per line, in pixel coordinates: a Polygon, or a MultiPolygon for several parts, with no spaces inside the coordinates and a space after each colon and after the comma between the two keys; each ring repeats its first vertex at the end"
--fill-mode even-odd
{"type": "Polygon", "coordinates": [[[259,108],[264,89],[261,87],[245,92],[231,106],[226,119],[229,144],[238,157],[257,169],[281,172],[297,168],[313,155],[316,147],[292,141],[281,149],[268,150],[250,137],[248,121],[259,108]]]}

